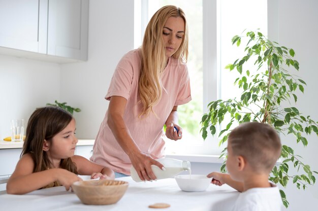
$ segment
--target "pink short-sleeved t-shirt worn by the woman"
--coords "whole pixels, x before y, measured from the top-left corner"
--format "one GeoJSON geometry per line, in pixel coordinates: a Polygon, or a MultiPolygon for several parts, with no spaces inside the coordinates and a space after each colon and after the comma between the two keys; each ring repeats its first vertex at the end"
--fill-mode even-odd
{"type": "MultiPolygon", "coordinates": [[[[142,108],[138,93],[140,54],[140,49],[135,49],[121,58],[105,99],[109,100],[111,96],[121,96],[127,100],[123,115],[124,122],[141,152],[156,159],[164,156],[163,127],[173,107],[191,100],[190,82],[186,65],[179,64],[177,59],[170,57],[161,79],[164,87],[162,98],[153,107],[157,116],[150,113],[146,118],[139,118],[142,108]]],[[[115,172],[130,175],[131,161],[110,130],[107,124],[107,113],[108,111],[100,126],[90,159],[115,172]]]]}

